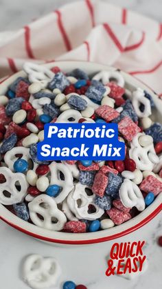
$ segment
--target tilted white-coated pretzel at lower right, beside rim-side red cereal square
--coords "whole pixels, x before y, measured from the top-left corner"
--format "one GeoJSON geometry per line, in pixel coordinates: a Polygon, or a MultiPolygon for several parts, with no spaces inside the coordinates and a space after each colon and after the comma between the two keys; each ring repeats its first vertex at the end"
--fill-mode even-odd
{"type": "Polygon", "coordinates": [[[119,188],[119,197],[126,208],[136,207],[139,211],[145,209],[145,201],[141,190],[130,179],[124,179],[122,186],[119,188]]]}

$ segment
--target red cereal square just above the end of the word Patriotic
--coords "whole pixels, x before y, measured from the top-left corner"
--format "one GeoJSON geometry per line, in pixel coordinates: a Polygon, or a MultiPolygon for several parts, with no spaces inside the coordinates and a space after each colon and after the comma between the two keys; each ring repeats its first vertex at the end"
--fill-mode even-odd
{"type": "Polygon", "coordinates": [[[116,119],[116,117],[119,117],[119,112],[111,108],[111,106],[100,106],[95,110],[95,113],[102,117],[105,121],[112,121],[113,119],[116,119]]]}

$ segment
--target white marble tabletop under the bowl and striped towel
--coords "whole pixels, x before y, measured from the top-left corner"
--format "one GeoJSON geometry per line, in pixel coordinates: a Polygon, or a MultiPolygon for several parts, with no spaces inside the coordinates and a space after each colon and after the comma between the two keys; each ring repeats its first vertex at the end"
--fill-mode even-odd
{"type": "MultiPolygon", "coordinates": [[[[104,0],[108,1],[108,0],[104,0]]],[[[51,10],[58,8],[65,0],[0,0],[0,30],[20,28],[51,10]],[[24,5],[25,3],[25,5],[24,5]]],[[[137,10],[154,19],[161,21],[161,0],[109,0],[137,10]]],[[[71,279],[76,283],[84,283],[88,289],[159,289],[161,281],[162,249],[157,246],[157,237],[162,235],[162,222],[160,216],[148,225],[132,233],[128,237],[117,241],[145,239],[148,243],[146,255],[149,261],[147,272],[133,281],[122,277],[106,277],[106,257],[110,243],[101,243],[95,246],[84,247],[51,247],[23,235],[0,222],[0,288],[27,289],[21,279],[22,259],[31,253],[56,257],[62,266],[62,277],[56,289],[62,288],[62,282],[71,279]]],[[[113,242],[111,242],[113,243],[113,242]]]]}

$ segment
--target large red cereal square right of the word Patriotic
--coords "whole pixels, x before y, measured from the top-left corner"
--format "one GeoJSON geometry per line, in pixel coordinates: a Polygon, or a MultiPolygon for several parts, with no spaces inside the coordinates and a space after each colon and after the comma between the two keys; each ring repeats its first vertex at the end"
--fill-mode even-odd
{"type": "Polygon", "coordinates": [[[141,131],[139,126],[137,126],[130,117],[124,117],[124,119],[118,123],[118,130],[127,141],[132,141],[133,137],[141,131]]]}

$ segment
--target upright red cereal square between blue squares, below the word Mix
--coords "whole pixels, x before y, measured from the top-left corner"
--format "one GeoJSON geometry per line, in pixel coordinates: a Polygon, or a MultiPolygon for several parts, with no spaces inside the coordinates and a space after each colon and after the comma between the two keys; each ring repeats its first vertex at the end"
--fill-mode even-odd
{"type": "Polygon", "coordinates": [[[107,185],[108,185],[108,177],[101,174],[100,172],[97,172],[92,186],[93,193],[99,197],[103,197],[107,185]]]}

